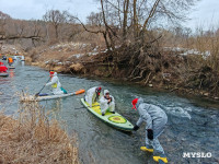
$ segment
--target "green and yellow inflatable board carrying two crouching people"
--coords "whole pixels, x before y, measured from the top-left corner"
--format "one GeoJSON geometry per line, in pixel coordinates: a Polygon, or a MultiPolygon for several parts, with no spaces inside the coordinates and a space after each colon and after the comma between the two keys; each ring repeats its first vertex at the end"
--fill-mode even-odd
{"type": "Polygon", "coordinates": [[[118,113],[112,114],[110,112],[106,112],[106,114],[102,116],[99,103],[94,103],[92,107],[90,107],[89,104],[84,101],[84,98],[81,98],[81,102],[89,109],[89,112],[91,112],[94,116],[105,121],[110,126],[125,131],[132,130],[134,126],[118,113]]]}

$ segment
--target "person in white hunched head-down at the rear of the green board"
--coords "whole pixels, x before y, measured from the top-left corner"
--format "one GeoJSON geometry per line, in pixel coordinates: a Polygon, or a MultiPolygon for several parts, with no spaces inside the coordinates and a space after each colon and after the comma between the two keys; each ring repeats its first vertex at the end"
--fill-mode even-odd
{"type": "Polygon", "coordinates": [[[89,103],[90,107],[92,104],[97,102],[103,95],[101,94],[102,89],[99,86],[91,87],[85,93],[85,102],[89,103]]]}

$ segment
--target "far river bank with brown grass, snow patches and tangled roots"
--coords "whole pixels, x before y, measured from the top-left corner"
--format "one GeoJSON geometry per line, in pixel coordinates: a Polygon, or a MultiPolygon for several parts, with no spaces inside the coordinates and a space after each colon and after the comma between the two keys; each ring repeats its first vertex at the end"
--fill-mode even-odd
{"type": "Polygon", "coordinates": [[[68,43],[34,49],[26,55],[26,63],[60,73],[122,80],[143,87],[219,101],[217,73],[208,66],[198,66],[203,57],[182,56],[183,51],[170,50],[138,51],[138,56],[131,56],[135,49],[118,47],[107,51],[89,44],[68,43]]]}

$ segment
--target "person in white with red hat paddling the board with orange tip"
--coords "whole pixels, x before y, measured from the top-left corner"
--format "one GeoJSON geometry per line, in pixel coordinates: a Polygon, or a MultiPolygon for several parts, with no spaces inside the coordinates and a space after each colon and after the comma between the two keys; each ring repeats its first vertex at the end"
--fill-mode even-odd
{"type": "Polygon", "coordinates": [[[51,85],[54,94],[67,94],[66,90],[61,87],[61,83],[57,77],[57,72],[49,72],[50,82],[46,83],[46,86],[51,85]]]}

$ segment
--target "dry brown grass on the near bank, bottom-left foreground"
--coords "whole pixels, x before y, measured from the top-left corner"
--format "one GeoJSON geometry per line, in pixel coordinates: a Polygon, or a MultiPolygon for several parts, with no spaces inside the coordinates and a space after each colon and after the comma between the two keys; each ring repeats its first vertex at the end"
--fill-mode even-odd
{"type": "Polygon", "coordinates": [[[0,113],[0,163],[78,164],[74,143],[36,101],[23,102],[18,119],[0,113]]]}

